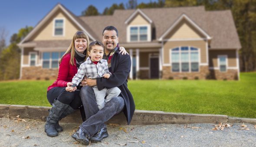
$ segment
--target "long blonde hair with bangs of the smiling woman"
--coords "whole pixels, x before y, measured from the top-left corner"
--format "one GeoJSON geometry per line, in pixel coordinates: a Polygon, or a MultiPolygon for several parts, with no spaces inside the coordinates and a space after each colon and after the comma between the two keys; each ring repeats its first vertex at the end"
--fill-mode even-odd
{"type": "Polygon", "coordinates": [[[70,57],[69,63],[70,63],[71,65],[74,65],[74,64],[75,64],[75,63],[74,63],[74,58],[75,58],[75,39],[86,39],[86,41],[87,41],[87,47],[86,47],[86,49],[85,49],[85,53],[86,53],[85,60],[87,59],[87,57],[88,57],[87,49],[89,48],[89,44],[90,44],[89,37],[88,37],[87,34],[85,34],[84,31],[77,31],[77,32],[75,33],[75,35],[73,36],[73,39],[72,39],[72,41],[71,41],[71,43],[70,43],[70,45],[69,45],[68,50],[67,50],[67,51],[65,52],[65,54],[59,59],[59,64],[60,64],[60,62],[62,61],[62,58],[63,58],[66,54],[68,54],[69,52],[71,52],[71,53],[70,53],[70,54],[71,54],[71,57],[70,57]]]}

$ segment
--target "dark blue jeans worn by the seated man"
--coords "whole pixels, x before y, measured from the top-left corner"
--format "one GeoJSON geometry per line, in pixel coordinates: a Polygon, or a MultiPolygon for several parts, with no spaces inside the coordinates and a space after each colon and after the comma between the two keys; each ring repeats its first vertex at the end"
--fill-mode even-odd
{"type": "Polygon", "coordinates": [[[125,106],[125,101],[121,97],[114,97],[108,101],[100,111],[95,101],[93,89],[90,86],[84,86],[80,90],[82,103],[85,109],[86,121],[80,127],[85,133],[92,137],[99,129],[105,127],[104,122],[108,121],[115,114],[120,113],[125,106]]]}

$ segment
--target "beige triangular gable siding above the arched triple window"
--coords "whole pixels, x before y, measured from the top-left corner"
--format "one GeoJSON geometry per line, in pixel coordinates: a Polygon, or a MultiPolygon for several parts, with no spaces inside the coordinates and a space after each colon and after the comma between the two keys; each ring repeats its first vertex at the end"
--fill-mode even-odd
{"type": "Polygon", "coordinates": [[[165,39],[199,39],[205,38],[197,29],[186,20],[175,26],[165,39]]]}

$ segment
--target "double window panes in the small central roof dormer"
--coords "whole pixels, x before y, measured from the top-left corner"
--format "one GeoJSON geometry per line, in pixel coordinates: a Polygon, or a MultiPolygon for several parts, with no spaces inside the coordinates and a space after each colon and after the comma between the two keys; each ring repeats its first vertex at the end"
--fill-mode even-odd
{"type": "Polygon", "coordinates": [[[147,41],[148,26],[130,27],[130,41],[147,41]]]}

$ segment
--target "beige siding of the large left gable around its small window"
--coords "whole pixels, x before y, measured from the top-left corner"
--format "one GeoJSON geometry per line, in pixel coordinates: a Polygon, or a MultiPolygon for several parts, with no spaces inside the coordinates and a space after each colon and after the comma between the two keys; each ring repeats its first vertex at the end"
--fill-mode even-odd
{"type": "Polygon", "coordinates": [[[76,31],[78,31],[78,27],[75,26],[74,23],[68,19],[62,11],[59,11],[49,19],[49,21],[41,27],[35,36],[33,36],[32,40],[64,40],[64,39],[72,39],[73,35],[76,31]],[[54,35],[54,19],[56,18],[64,18],[64,36],[53,36],[54,35]]]}

